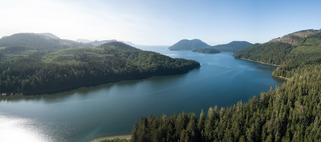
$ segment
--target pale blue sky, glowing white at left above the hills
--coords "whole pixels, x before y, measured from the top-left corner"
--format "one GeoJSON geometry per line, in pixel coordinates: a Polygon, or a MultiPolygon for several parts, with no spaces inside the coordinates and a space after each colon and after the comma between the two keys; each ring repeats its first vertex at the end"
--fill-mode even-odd
{"type": "Polygon", "coordinates": [[[321,1],[16,1],[0,0],[0,37],[53,33],[76,40],[172,45],[200,39],[263,43],[321,29],[321,1]]]}

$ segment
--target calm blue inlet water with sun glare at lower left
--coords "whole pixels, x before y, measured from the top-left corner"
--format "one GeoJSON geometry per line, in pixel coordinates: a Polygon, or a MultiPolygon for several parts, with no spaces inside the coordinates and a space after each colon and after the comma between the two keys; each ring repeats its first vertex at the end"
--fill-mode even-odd
{"type": "Polygon", "coordinates": [[[274,66],[234,59],[232,53],[200,54],[142,46],[202,65],[187,74],[129,80],[35,96],[0,98],[0,141],[90,141],[130,134],[142,115],[195,112],[246,102],[282,83],[274,66]]]}

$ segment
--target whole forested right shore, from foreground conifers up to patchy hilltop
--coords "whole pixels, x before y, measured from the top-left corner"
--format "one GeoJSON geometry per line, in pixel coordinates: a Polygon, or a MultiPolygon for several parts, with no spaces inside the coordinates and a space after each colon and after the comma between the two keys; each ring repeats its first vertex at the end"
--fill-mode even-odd
{"type": "MultiPolygon", "coordinates": [[[[274,76],[290,78],[248,102],[195,113],[142,116],[130,141],[321,141],[321,34],[304,30],[236,52],[280,65],[274,76]]],[[[110,140],[105,140],[110,141],[110,140]]]]}

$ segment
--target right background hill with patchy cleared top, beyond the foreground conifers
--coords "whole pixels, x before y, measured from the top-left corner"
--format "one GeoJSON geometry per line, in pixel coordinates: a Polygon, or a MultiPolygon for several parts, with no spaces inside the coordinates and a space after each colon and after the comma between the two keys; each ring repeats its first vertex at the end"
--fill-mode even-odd
{"type": "Polygon", "coordinates": [[[273,75],[291,78],[299,68],[321,63],[321,31],[303,30],[254,44],[234,57],[278,64],[273,75]]]}

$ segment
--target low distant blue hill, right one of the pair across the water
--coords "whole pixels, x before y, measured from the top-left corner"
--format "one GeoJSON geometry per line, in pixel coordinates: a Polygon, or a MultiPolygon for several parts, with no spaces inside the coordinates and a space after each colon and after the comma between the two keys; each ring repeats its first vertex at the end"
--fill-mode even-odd
{"type": "Polygon", "coordinates": [[[219,51],[236,52],[236,51],[245,49],[251,45],[253,44],[247,41],[232,41],[227,44],[219,44],[219,45],[212,46],[212,48],[217,49],[219,51]]]}

